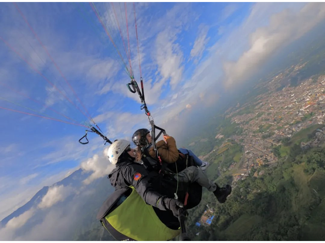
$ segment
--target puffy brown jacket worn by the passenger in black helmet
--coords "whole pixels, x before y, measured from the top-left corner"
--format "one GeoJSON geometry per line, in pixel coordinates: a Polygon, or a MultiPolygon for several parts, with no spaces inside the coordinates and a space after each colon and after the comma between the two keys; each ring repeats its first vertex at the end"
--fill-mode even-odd
{"type": "MultiPolygon", "coordinates": [[[[175,138],[171,136],[167,136],[166,142],[167,143],[165,143],[164,140],[160,140],[156,143],[158,153],[162,161],[168,164],[175,163],[179,156],[178,149],[176,147],[175,138]]],[[[153,146],[149,148],[148,152],[152,158],[156,157],[155,151],[153,150],[153,146]]]]}

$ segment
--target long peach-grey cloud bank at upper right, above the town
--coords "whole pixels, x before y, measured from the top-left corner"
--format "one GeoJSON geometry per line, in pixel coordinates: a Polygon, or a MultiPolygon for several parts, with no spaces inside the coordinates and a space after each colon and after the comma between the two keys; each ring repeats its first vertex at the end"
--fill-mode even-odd
{"type": "Polygon", "coordinates": [[[308,3],[299,12],[284,10],[271,17],[270,24],[251,34],[250,48],[236,62],[224,64],[226,86],[244,80],[258,70],[278,48],[303,36],[325,18],[324,3],[308,3]]]}

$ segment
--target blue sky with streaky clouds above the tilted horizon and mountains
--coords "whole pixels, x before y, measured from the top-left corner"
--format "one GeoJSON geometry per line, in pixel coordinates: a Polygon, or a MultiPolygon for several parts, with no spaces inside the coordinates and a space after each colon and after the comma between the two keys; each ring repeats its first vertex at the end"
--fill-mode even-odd
{"type": "Polygon", "coordinates": [[[149,128],[139,97],[126,87],[128,56],[139,85],[140,57],[155,123],[177,137],[182,120],[217,105],[221,93],[254,75],[277,49],[324,21],[324,9],[324,3],[0,3],[0,107],[10,109],[0,109],[0,219],[77,168],[93,172],[85,183],[108,174],[103,140],[88,133],[89,144],[78,143],[89,116],[111,140],[149,128]]]}

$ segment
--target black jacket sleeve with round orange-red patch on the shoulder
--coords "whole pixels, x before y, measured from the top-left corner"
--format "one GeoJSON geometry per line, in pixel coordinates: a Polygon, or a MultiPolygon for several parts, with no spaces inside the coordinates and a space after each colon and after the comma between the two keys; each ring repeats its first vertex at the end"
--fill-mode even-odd
{"type": "Polygon", "coordinates": [[[148,181],[148,172],[142,165],[130,164],[125,168],[123,174],[127,182],[134,186],[137,193],[147,204],[155,206],[160,210],[166,210],[165,196],[151,187],[148,181]]]}

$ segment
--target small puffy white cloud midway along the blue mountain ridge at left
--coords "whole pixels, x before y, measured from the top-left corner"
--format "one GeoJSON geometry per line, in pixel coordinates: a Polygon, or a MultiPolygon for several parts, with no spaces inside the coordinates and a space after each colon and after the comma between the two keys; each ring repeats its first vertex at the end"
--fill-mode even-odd
{"type": "Polygon", "coordinates": [[[41,209],[52,207],[69,196],[71,191],[71,187],[64,187],[63,185],[50,187],[38,207],[41,209]]]}

